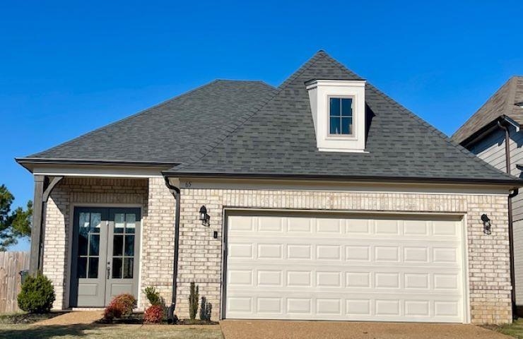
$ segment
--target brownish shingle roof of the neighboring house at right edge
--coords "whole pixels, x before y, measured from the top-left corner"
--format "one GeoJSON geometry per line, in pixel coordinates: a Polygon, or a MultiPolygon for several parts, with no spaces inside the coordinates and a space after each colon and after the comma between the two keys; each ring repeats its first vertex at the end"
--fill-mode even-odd
{"type": "Polygon", "coordinates": [[[452,140],[462,143],[501,115],[523,124],[523,108],[516,105],[520,102],[523,102],[523,76],[513,76],[459,127],[452,140]]]}

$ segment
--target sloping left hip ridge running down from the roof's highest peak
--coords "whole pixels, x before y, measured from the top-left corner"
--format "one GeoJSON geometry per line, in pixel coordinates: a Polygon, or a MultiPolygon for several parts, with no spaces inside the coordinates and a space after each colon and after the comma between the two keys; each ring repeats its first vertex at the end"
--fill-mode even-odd
{"type": "Polygon", "coordinates": [[[229,136],[233,135],[233,133],[235,131],[237,131],[237,129],[239,129],[240,126],[243,126],[247,121],[249,121],[249,119],[251,119],[254,116],[254,114],[259,112],[260,109],[264,108],[267,104],[269,104],[269,102],[271,102],[271,100],[273,100],[274,97],[276,97],[276,95],[283,92],[283,90],[285,90],[285,88],[287,88],[287,86],[290,83],[292,83],[296,78],[298,78],[298,76],[300,76],[303,72],[307,71],[307,69],[309,69],[312,65],[314,65],[320,58],[326,57],[326,56],[327,56],[327,54],[320,49],[314,56],[312,56],[312,58],[307,60],[305,62],[305,64],[302,64],[302,66],[300,66],[300,68],[297,71],[292,73],[286,79],[286,81],[283,81],[283,83],[281,83],[281,85],[279,85],[278,88],[276,88],[276,92],[273,95],[271,95],[270,97],[267,97],[265,100],[260,102],[258,105],[255,105],[256,108],[253,107],[253,109],[251,109],[251,114],[249,114],[248,117],[246,117],[245,119],[242,119],[242,121],[239,121],[239,123],[234,124],[233,129],[231,131],[228,131],[228,132],[226,131],[226,133],[223,133],[223,138],[217,138],[216,141],[207,145],[206,148],[204,148],[204,150],[202,150],[199,153],[199,155],[195,155],[194,157],[191,157],[189,162],[185,162],[185,163],[183,163],[181,165],[177,165],[173,168],[182,169],[189,165],[193,165],[195,162],[198,162],[203,157],[208,155],[208,153],[211,153],[212,150],[214,150],[216,147],[218,147],[218,145],[223,143],[229,136]]]}

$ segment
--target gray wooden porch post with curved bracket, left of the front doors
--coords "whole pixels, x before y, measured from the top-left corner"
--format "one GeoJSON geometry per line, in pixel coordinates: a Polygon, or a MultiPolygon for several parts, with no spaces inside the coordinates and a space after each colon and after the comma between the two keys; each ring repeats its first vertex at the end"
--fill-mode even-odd
{"type": "Polygon", "coordinates": [[[33,228],[31,230],[31,254],[29,258],[29,272],[32,275],[42,272],[47,200],[54,186],[57,186],[63,178],[52,177],[50,179],[44,175],[35,174],[35,200],[33,203],[33,228]]]}

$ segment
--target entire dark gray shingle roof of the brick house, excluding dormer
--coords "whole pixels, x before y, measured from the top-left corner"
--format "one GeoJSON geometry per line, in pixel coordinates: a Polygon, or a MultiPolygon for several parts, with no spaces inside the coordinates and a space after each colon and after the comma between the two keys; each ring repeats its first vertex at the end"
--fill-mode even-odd
{"type": "Polygon", "coordinates": [[[318,52],[278,89],[215,81],[20,162],[173,164],[179,176],[514,182],[367,83],[368,153],[319,152],[305,82],[360,80],[318,52]]]}

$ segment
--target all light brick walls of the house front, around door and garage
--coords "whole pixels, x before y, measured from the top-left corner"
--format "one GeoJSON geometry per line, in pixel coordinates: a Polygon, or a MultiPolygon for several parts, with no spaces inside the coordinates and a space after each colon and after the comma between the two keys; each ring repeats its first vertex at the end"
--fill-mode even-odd
{"type": "MultiPolygon", "coordinates": [[[[473,323],[508,323],[510,268],[507,197],[458,194],[396,194],[327,191],[182,189],[177,314],[188,316],[189,284],[213,304],[213,319],[221,310],[221,233],[223,208],[288,208],[366,210],[384,212],[463,213],[467,220],[469,287],[473,323]],[[199,221],[205,205],[211,227],[199,221]],[[483,234],[480,216],[493,220],[493,234],[483,234]],[[213,239],[213,231],[218,239],[213,239]]],[[[54,307],[66,307],[69,275],[69,231],[72,206],[81,203],[142,206],[141,285],[155,286],[170,303],[174,251],[175,200],[163,179],[66,178],[52,192],[47,206],[44,273],[57,292],[54,307]]],[[[466,297],[466,296],[465,296],[466,297]]],[[[141,301],[145,300],[142,295],[141,301]]]]}

